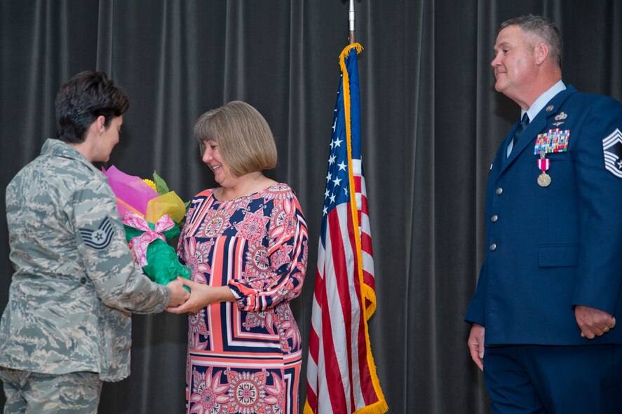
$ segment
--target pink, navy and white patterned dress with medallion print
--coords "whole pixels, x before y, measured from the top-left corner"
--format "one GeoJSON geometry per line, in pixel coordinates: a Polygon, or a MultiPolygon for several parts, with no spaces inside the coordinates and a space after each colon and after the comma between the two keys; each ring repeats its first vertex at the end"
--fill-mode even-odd
{"type": "Polygon", "coordinates": [[[302,365],[288,301],[302,291],[308,235],[287,184],[219,201],[196,195],[177,254],[192,280],[228,285],[235,303],[189,317],[187,413],[297,413],[302,365]]]}

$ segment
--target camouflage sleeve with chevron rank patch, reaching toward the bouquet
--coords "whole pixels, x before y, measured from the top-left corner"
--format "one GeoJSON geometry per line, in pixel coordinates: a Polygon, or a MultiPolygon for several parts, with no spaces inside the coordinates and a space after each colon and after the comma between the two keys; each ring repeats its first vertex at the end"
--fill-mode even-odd
{"type": "Polygon", "coordinates": [[[170,289],[151,282],[132,260],[114,194],[104,181],[78,189],[66,214],[76,235],[76,245],[86,268],[86,280],[97,297],[110,308],[135,313],[162,312],[170,289]]]}

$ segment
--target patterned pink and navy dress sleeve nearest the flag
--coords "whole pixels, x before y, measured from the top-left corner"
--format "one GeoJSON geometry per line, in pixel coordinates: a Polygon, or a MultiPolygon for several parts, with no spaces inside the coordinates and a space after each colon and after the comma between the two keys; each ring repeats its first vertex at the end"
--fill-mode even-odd
{"type": "Polygon", "coordinates": [[[269,277],[256,281],[229,281],[240,310],[257,312],[297,297],[302,291],[309,258],[309,235],[302,209],[291,193],[275,199],[268,237],[269,277]]]}

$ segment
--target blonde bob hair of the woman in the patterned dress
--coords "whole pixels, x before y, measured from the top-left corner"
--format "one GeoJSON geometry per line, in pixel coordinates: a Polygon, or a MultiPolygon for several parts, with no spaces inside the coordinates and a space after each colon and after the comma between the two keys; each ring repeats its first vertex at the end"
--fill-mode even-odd
{"type": "Polygon", "coordinates": [[[236,178],[276,167],[276,144],[272,131],[257,109],[232,101],[199,116],[194,137],[205,153],[205,142],[218,144],[220,156],[236,178]]]}

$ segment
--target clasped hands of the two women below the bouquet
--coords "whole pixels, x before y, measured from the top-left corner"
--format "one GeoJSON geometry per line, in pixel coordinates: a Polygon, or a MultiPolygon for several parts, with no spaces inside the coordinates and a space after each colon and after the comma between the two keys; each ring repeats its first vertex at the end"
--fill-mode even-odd
{"type": "Polygon", "coordinates": [[[165,310],[170,313],[195,313],[211,303],[235,301],[234,294],[227,286],[211,287],[182,277],[177,277],[177,280],[173,280],[167,286],[171,289],[171,295],[170,303],[165,310]],[[190,293],[184,286],[190,288],[190,293]]]}

